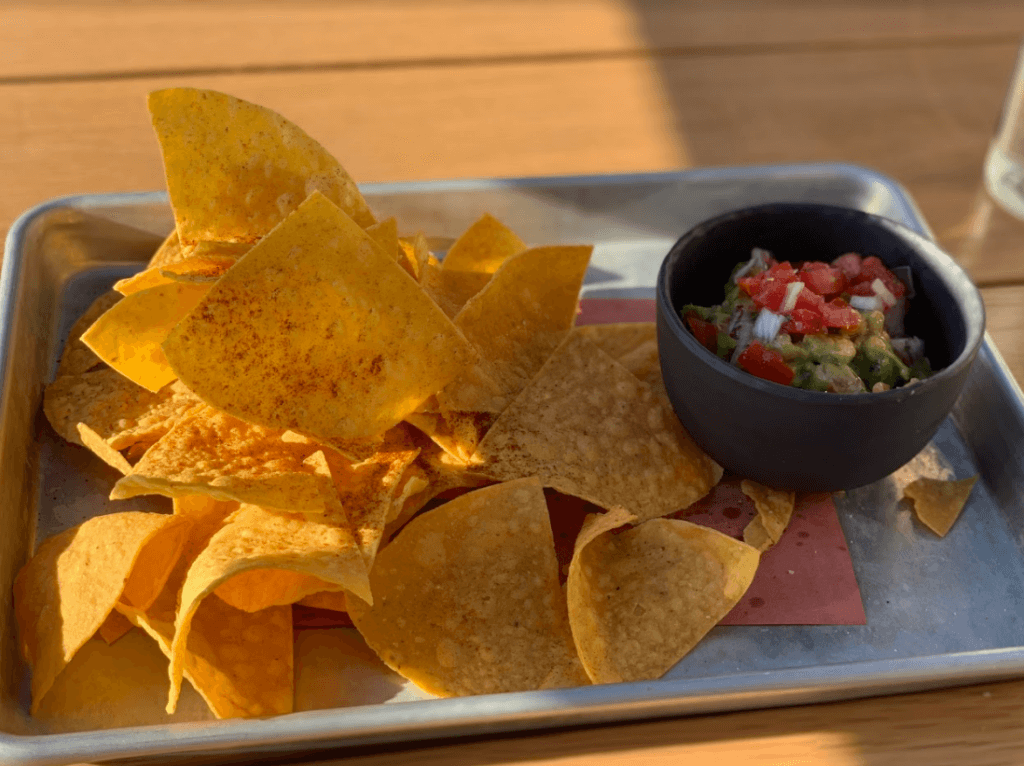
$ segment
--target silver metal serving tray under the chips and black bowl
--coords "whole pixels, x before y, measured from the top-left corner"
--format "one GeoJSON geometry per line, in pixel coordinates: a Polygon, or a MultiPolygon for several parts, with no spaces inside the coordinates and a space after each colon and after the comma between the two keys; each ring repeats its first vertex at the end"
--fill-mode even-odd
{"type": "MultiPolygon", "coordinates": [[[[692,224],[774,201],[827,202],[929,235],[893,180],[849,165],[444,181],[365,187],[403,230],[453,236],[483,211],[536,243],[594,243],[589,297],[651,297],[657,266],[692,224]]],[[[12,227],[0,275],[0,761],[56,764],[262,755],[794,705],[990,681],[1024,673],[1024,405],[986,338],[930,457],[980,473],[944,540],[925,534],[890,478],[838,498],[866,626],[718,627],[665,678],[557,691],[418,699],[270,720],[161,723],[47,734],[28,716],[11,582],[35,539],[99,512],[112,477],[61,445],[39,414],[74,320],[138,270],[172,227],[164,194],[70,197],[12,227]],[[74,499],[69,502],[68,499],[74,499]]],[[[383,674],[385,671],[378,671],[383,674]]],[[[378,697],[380,698],[380,697],[378,697]]]]}

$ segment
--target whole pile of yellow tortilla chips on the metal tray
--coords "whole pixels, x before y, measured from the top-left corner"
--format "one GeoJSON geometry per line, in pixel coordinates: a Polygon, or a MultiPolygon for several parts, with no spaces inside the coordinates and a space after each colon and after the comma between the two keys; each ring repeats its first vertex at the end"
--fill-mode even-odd
{"type": "Polygon", "coordinates": [[[112,500],[173,513],[112,504],[23,568],[34,713],[87,697],[61,671],[133,629],[168,712],[184,679],[216,717],[268,716],[293,710],[293,604],[456,695],[657,678],[741,597],[786,497],[762,493],[757,547],[664,518],[722,470],[651,326],[573,327],[591,248],[484,214],[439,260],[274,113],[195,89],[150,110],[175,229],[76,326],[44,412],[124,474],[112,500]],[[571,560],[546,490],[606,509],[571,560]]]}

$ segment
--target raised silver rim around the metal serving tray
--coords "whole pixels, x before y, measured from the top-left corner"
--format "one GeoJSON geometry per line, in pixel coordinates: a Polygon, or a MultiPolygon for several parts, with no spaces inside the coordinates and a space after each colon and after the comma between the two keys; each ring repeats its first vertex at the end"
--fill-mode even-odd
{"type": "MultiPolygon", "coordinates": [[[[442,179],[361,184],[368,196],[422,194],[486,188],[587,186],[595,183],[630,185],[681,180],[743,180],[785,176],[808,179],[827,175],[883,186],[903,214],[903,223],[934,239],[915,202],[895,179],[848,163],[793,163],[662,172],[442,179]]],[[[0,417],[8,398],[8,354],[24,248],[34,222],[60,208],[116,208],[168,203],[166,192],[78,194],[53,198],[24,212],[7,232],[0,269],[0,417]],[[15,257],[11,257],[11,255],[15,257]]],[[[1024,393],[986,332],[981,354],[987,356],[998,382],[1007,386],[1024,420],[1024,393]]],[[[266,749],[358,747],[381,741],[425,741],[465,733],[499,734],[524,729],[592,725],[610,721],[775,708],[807,703],[851,699],[880,693],[903,693],[1018,676],[1024,672],[1024,644],[980,651],[931,654],[897,659],[870,659],[813,665],[775,671],[743,672],[696,679],[610,684],[555,691],[530,691],[454,699],[409,701],[400,706],[360,706],[311,711],[275,719],[155,724],[129,729],[59,734],[0,732],[0,760],[25,764],[56,764],[76,760],[159,757],[186,752],[269,754],[266,749]],[[950,669],[956,673],[950,675],[950,669]],[[824,671],[824,672],[822,672],[824,671]],[[855,671],[855,672],[851,672],[855,671]],[[900,684],[894,686],[892,679],[900,684]],[[752,687],[753,688],[752,690],[752,687]],[[572,707],[564,697],[572,697],[572,707]],[[387,711],[386,726],[380,718],[387,711]],[[343,721],[326,731],[326,719],[343,721]],[[130,744],[123,732],[131,732],[130,744]],[[119,733],[121,734],[119,736],[119,733]],[[316,742],[315,740],[322,740],[316,742]]]]}

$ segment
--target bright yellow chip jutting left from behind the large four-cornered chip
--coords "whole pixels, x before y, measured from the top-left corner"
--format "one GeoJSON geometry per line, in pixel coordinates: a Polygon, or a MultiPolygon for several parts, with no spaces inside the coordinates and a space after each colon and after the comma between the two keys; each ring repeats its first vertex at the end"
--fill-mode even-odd
{"type": "Polygon", "coordinates": [[[82,342],[119,373],[156,393],[178,376],[161,344],[210,289],[171,283],[125,296],[93,323],[82,342]]]}

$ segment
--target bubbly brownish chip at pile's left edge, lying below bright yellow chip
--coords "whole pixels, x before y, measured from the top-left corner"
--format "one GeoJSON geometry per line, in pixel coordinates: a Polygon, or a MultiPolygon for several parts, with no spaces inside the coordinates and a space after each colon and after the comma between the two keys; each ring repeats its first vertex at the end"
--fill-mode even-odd
{"type": "Polygon", "coordinates": [[[57,378],[43,394],[54,431],[81,444],[82,423],[116,451],[156,441],[200,403],[179,381],[153,393],[110,368],[57,378]]]}

